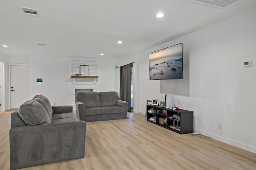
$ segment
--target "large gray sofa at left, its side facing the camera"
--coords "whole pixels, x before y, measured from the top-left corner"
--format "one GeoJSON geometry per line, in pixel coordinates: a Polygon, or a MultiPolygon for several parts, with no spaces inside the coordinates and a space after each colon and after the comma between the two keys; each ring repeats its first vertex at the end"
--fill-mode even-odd
{"type": "Polygon", "coordinates": [[[11,114],[10,169],[83,158],[86,122],[36,95],[11,114]]]}

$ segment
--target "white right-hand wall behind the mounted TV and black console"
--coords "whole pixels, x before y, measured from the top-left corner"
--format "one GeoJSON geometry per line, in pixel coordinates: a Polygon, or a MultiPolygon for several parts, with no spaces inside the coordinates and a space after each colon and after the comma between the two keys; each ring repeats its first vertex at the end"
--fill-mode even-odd
{"type": "Polygon", "coordinates": [[[148,53],[183,43],[184,79],[163,80],[162,92],[174,93],[176,106],[194,111],[196,132],[256,153],[255,18],[252,10],[139,53],[140,113],[146,100],[162,100],[161,81],[149,80],[148,53]],[[243,67],[247,59],[253,67],[243,67]]]}

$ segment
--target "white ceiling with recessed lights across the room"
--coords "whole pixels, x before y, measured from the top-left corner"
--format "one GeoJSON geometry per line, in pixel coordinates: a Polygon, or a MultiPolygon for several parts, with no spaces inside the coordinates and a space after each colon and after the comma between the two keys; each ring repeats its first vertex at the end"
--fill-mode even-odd
{"type": "Polygon", "coordinates": [[[222,9],[191,1],[0,0],[0,52],[119,59],[256,8],[256,0],[238,0],[222,9]],[[37,9],[39,17],[20,7],[37,9]],[[158,12],[164,18],[156,18],[158,12]]]}

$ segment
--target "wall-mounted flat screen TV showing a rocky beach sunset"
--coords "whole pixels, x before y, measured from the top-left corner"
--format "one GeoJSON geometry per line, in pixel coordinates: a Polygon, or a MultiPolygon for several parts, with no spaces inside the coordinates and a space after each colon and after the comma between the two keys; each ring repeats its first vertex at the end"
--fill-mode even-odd
{"type": "Polygon", "coordinates": [[[149,53],[149,79],[183,79],[182,43],[149,53]]]}

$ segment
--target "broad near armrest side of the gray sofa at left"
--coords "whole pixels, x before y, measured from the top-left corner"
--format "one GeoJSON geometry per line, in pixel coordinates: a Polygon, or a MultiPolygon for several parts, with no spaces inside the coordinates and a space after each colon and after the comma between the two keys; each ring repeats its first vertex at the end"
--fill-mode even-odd
{"type": "Polygon", "coordinates": [[[14,127],[9,134],[11,170],[84,157],[85,121],[14,127]]]}

